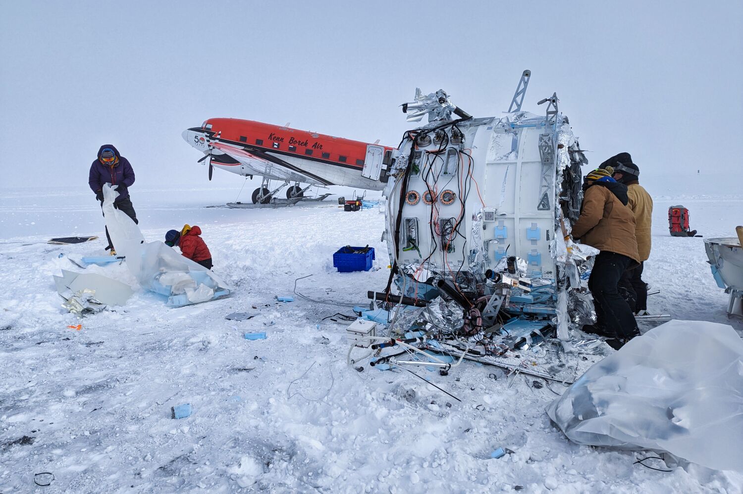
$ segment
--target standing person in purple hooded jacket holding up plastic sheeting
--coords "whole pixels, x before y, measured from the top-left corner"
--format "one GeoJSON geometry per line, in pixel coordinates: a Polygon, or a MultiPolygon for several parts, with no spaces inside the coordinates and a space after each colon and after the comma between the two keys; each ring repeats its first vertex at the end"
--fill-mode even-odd
{"type": "MultiPolygon", "coordinates": [[[[120,155],[118,149],[111,144],[100,146],[98,157],[91,164],[91,172],[88,176],[88,185],[95,192],[95,198],[100,201],[101,207],[103,207],[104,183],[118,186],[119,195],[114,200],[114,207],[125,212],[129,218],[134,220],[134,223],[139,224],[137,213],[134,212],[132,200],[129,198],[129,187],[134,183],[134,170],[129,160],[120,155]]],[[[116,250],[114,244],[111,243],[111,236],[108,235],[108,228],[106,228],[106,238],[108,238],[106,250],[111,250],[111,256],[115,256],[116,250]]]]}

